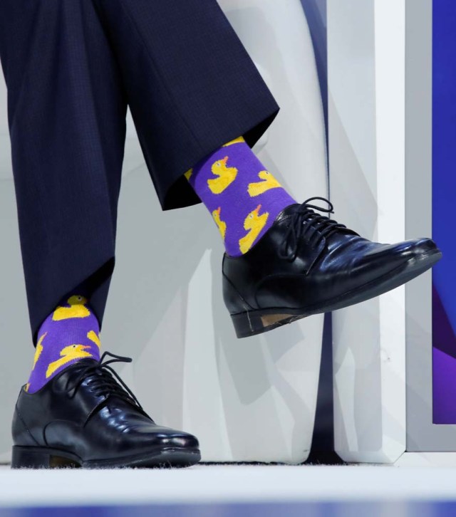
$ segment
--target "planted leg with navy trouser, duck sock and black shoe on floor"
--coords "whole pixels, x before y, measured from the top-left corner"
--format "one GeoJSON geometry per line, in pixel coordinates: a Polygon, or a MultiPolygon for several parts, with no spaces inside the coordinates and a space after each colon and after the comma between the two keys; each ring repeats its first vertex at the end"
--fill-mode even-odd
{"type": "Polygon", "coordinates": [[[107,363],[128,359],[99,358],[126,102],[93,1],[2,0],[0,58],[36,342],[12,466],[194,464],[197,439],[155,424],[115,380],[107,363]]]}

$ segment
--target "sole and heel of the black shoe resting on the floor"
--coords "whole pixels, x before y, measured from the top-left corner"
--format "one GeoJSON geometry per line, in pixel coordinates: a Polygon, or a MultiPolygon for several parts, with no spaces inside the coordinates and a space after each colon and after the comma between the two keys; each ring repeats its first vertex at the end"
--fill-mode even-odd
{"type": "Polygon", "coordinates": [[[83,461],[75,454],[48,447],[13,447],[11,469],[83,469],[171,468],[187,467],[201,459],[199,449],[167,447],[150,453],[135,454],[113,459],[83,461]]]}

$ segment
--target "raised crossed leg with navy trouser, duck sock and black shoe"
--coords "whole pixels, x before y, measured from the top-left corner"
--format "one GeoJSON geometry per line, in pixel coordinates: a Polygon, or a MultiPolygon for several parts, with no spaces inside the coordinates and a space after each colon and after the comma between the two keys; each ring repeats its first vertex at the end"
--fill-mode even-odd
{"type": "Polygon", "coordinates": [[[202,200],[219,226],[238,337],[378,296],[440,259],[430,239],[372,243],[318,214],[331,204],[284,192],[249,148],[278,107],[217,1],[94,1],[162,207],[202,200]]]}

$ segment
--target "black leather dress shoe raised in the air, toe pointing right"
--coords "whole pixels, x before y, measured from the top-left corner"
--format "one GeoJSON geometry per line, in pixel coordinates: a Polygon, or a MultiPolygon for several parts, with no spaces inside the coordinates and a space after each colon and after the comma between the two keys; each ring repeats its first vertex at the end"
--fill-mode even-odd
{"type": "Polygon", "coordinates": [[[238,338],[366,301],[442,256],[431,239],[378,244],[314,209],[332,213],[333,205],[321,197],[291,204],[246,254],[224,255],[223,296],[238,338]]]}

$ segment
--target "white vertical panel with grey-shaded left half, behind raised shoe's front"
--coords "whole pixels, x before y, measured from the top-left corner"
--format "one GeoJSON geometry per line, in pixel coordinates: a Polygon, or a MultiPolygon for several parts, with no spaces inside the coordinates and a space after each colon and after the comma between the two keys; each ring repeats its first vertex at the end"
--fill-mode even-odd
{"type": "MultiPolygon", "coordinates": [[[[328,119],[336,217],[405,239],[405,0],[328,0],[328,119]]],[[[405,289],[333,314],[335,448],[405,451],[405,289]]]]}

